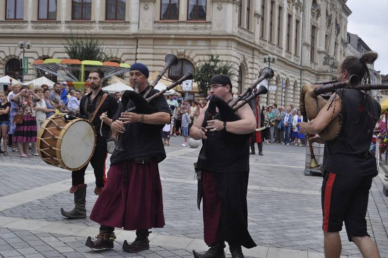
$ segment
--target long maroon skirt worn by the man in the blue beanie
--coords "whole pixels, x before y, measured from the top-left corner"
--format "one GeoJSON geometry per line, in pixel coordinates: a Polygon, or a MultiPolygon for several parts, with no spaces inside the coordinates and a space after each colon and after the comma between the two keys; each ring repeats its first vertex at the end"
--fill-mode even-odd
{"type": "Polygon", "coordinates": [[[146,164],[130,159],[111,165],[90,219],[125,230],[163,227],[162,184],[156,158],[146,164]]]}

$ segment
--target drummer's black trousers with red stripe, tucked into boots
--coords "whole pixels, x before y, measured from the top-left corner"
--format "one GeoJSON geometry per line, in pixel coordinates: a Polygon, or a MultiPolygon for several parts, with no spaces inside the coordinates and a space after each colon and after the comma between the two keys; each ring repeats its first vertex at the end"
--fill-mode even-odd
{"type": "MultiPolygon", "coordinates": [[[[92,164],[94,175],[96,177],[96,186],[104,187],[104,183],[106,181],[105,177],[105,160],[108,155],[105,145],[97,145],[96,150],[90,159],[90,163],[92,164]]],[[[85,171],[88,167],[89,162],[82,167],[80,170],[71,172],[72,185],[79,185],[85,183],[85,171]]]]}

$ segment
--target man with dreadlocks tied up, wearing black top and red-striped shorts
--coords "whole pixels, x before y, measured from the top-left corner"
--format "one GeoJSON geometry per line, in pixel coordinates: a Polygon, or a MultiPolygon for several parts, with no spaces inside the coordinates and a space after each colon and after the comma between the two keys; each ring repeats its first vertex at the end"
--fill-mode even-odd
{"type": "MultiPolygon", "coordinates": [[[[370,81],[367,64],[376,58],[375,52],[366,52],[361,58],[345,56],[338,66],[338,82],[347,81],[353,74],[370,81]]],[[[339,258],[341,254],[339,231],[343,222],[349,241],[356,243],[363,257],[380,257],[365,220],[369,189],[377,174],[376,159],[369,153],[369,146],[380,111],[379,103],[368,92],[340,89],[315,119],[300,124],[302,133],[319,134],[335,117],[342,117],[337,138],[326,141],[319,136],[310,138],[325,143],[322,211],[326,258],[339,258]]]]}

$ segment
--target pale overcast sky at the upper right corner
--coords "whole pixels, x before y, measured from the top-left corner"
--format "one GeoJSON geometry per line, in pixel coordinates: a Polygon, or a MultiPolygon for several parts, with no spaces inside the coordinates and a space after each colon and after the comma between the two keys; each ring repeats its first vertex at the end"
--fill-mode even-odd
{"type": "Polygon", "coordinates": [[[348,17],[348,32],[357,34],[377,52],[374,69],[388,74],[388,0],[348,0],[352,11],[348,17]]]}

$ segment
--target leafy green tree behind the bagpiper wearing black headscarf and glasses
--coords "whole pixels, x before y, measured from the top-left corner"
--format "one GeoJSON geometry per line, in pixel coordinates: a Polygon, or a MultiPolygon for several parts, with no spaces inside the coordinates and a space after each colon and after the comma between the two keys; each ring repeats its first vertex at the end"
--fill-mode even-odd
{"type": "Polygon", "coordinates": [[[227,74],[233,79],[233,64],[223,62],[218,55],[210,54],[209,61],[202,61],[195,67],[194,81],[198,84],[200,94],[207,96],[210,78],[216,74],[227,74]]]}

